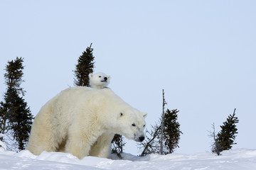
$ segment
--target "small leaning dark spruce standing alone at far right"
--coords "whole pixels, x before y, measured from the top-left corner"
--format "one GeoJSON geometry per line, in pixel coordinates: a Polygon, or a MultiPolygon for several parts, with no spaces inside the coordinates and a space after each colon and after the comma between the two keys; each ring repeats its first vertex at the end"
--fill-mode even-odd
{"type": "Polygon", "coordinates": [[[233,115],[229,115],[227,120],[220,126],[221,130],[217,135],[217,142],[220,145],[220,152],[223,150],[229,150],[232,145],[235,145],[235,137],[238,134],[238,128],[236,128],[236,123],[238,123],[238,117],[235,116],[235,110],[233,115]]]}

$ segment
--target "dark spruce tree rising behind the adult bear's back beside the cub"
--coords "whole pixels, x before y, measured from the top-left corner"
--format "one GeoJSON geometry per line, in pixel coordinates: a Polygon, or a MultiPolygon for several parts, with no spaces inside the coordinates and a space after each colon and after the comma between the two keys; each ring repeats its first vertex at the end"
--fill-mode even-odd
{"type": "Polygon", "coordinates": [[[82,52],[82,55],[78,58],[78,64],[75,65],[75,79],[74,85],[75,86],[89,86],[89,74],[93,72],[94,58],[92,54],[93,48],[92,43],[90,47],[82,52]]]}

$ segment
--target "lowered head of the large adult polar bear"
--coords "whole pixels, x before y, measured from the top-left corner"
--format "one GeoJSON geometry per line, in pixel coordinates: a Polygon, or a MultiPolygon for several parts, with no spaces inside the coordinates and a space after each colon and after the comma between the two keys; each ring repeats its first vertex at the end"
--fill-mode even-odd
{"type": "Polygon", "coordinates": [[[119,112],[119,133],[129,140],[142,142],[145,138],[144,129],[146,127],[146,113],[141,113],[135,109],[127,109],[119,112]]]}

